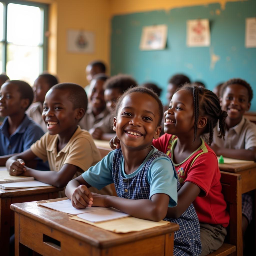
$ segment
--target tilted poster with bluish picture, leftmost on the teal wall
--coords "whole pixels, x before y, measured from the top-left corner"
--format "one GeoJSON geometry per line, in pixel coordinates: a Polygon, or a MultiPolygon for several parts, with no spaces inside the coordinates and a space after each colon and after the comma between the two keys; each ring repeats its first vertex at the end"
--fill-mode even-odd
{"type": "Polygon", "coordinates": [[[163,50],[166,47],[167,25],[146,26],[142,28],[141,50],[163,50]]]}

